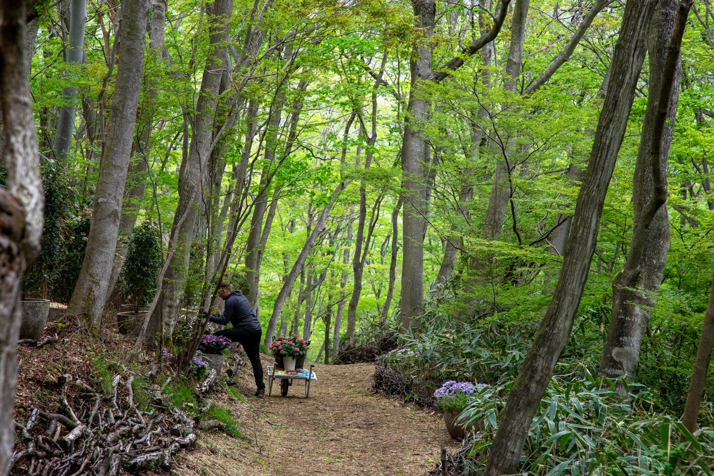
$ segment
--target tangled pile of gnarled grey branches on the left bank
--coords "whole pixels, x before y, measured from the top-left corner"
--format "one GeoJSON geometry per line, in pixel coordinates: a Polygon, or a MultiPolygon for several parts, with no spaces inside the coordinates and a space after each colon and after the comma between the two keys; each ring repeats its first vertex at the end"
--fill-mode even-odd
{"type": "Polygon", "coordinates": [[[107,396],[63,375],[60,409],[51,413],[33,407],[24,425],[16,422],[10,474],[112,476],[119,475],[120,467],[132,473],[151,467],[170,470],[176,452],[196,442],[194,422],[176,408],[140,410],[134,403],[133,380],[122,382],[116,375],[111,382],[114,393],[107,396]],[[124,396],[120,388],[126,389],[124,396]],[[68,390],[75,395],[74,406],[68,390]]]}

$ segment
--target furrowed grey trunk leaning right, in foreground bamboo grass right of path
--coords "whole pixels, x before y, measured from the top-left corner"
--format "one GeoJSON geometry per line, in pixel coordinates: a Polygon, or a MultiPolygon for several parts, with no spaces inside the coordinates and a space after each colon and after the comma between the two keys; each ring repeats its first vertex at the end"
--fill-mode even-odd
{"type": "Polygon", "coordinates": [[[610,88],[612,91],[608,91],[605,98],[588,170],[575,205],[560,279],[535,334],[531,350],[508,395],[506,409],[501,414],[498,431],[488,455],[486,476],[518,472],[518,460],[528,427],[573,328],[573,317],[578,310],[590,270],[590,260],[595,252],[605,194],[642,69],[645,39],[654,4],[653,0],[629,0],[625,6],[620,36],[610,64],[610,83],[617,84],[618,88],[610,88]]]}

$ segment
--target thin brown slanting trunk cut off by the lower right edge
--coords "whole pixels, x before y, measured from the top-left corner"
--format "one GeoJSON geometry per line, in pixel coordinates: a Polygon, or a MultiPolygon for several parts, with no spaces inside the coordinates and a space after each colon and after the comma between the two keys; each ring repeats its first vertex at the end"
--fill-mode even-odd
{"type": "Polygon", "coordinates": [[[697,357],[694,360],[694,369],[692,370],[692,378],[689,382],[689,392],[687,393],[687,402],[684,405],[684,414],[682,415],[682,423],[690,433],[697,429],[697,417],[699,415],[699,406],[702,402],[704,386],[707,381],[707,373],[709,370],[709,361],[711,360],[712,347],[714,346],[714,279],[712,280],[711,290],[709,293],[709,303],[707,312],[704,315],[702,323],[702,335],[699,339],[699,347],[697,348],[697,357]]]}

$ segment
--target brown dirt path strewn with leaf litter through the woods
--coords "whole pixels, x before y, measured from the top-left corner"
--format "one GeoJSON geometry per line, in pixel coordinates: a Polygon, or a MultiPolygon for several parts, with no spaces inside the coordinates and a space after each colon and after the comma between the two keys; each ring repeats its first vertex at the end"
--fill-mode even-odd
{"type": "Polygon", "coordinates": [[[373,395],[373,371],[372,364],[317,365],[308,399],[296,381],[287,397],[279,396],[278,384],[272,397],[251,397],[247,406],[233,402],[248,440],[204,435],[203,450],[189,452],[179,474],[425,475],[441,443],[449,450],[458,444],[441,418],[373,395]]]}

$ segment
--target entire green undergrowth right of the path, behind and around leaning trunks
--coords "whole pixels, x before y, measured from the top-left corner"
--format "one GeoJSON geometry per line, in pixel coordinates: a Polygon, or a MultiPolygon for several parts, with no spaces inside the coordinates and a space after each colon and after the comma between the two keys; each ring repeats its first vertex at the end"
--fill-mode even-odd
{"type": "MultiPolygon", "coordinates": [[[[452,461],[458,474],[481,476],[535,323],[503,315],[469,320],[428,310],[420,328],[377,358],[375,387],[428,406],[433,390],[448,380],[486,384],[462,413],[476,437],[464,442],[452,461]]],[[[679,420],[698,333],[663,325],[645,338],[634,383],[595,378],[604,338],[600,311],[588,309],[575,318],[573,335],[531,422],[518,472],[713,475],[711,380],[699,415],[703,427],[692,435],[679,420]],[[673,380],[677,385],[668,385],[673,380]],[[615,391],[616,385],[627,397],[615,391]]]]}

